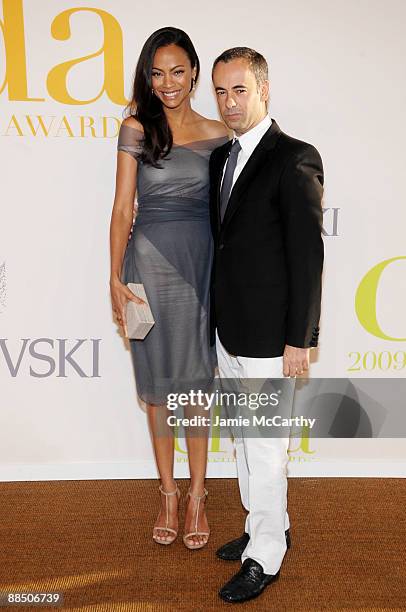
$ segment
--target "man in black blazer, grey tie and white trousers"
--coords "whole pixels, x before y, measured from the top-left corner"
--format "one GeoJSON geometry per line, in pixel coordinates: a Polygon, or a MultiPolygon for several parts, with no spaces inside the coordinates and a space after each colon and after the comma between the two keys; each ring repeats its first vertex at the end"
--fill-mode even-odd
{"type": "MultiPolygon", "coordinates": [[[[236,47],[213,65],[220,113],[234,138],[210,158],[215,256],[211,337],[222,378],[295,377],[317,346],[323,267],[323,165],[310,144],[268,115],[268,67],[236,47]]],[[[243,561],[220,596],[241,602],[279,577],[290,545],[288,438],[235,439],[244,534],[221,559],[243,561]]]]}

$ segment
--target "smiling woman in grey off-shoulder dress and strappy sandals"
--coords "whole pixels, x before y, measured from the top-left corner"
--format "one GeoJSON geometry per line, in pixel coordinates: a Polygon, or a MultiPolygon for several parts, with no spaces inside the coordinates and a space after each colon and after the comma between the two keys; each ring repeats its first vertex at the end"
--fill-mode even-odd
{"type": "MultiPolygon", "coordinates": [[[[153,528],[160,544],[177,536],[180,496],[173,478],[168,394],[207,390],[215,365],[209,340],[209,157],[228,136],[222,123],[192,109],[198,76],[199,59],[185,32],[167,27],[148,38],[137,63],[129,116],[119,132],[110,227],[117,320],[125,330],[126,304],[139,302],[128,282],[143,283],[155,319],[145,339],[130,340],[130,348],[161,481],[153,528]]],[[[184,416],[192,414],[196,407],[186,406],[184,416]]],[[[204,546],[210,533],[204,504],[207,442],[207,430],[197,436],[186,430],[190,488],[183,541],[191,549],[204,546]]]]}

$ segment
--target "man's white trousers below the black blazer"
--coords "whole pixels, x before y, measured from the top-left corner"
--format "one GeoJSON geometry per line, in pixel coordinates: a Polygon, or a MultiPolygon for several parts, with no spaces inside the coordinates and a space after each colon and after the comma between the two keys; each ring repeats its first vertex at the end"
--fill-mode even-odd
{"type": "MultiPolygon", "coordinates": [[[[252,358],[231,355],[216,332],[220,378],[283,378],[283,357],[252,358]]],[[[294,380],[290,400],[293,401],[294,380]]],[[[250,380],[250,387],[255,381],[250,380]]],[[[289,400],[288,400],[289,401],[289,400]]],[[[290,406],[291,407],[291,406],[290,406]]],[[[245,531],[250,539],[241,561],[254,559],[265,574],[275,574],[286,553],[288,437],[234,438],[241,501],[248,511],[245,531]]]]}

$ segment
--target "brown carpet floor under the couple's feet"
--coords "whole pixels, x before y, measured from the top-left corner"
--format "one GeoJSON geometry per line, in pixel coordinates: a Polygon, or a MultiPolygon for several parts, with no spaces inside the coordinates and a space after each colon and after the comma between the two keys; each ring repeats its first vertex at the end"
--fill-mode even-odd
{"type": "MultiPolygon", "coordinates": [[[[180,486],[183,505],[187,482],[180,486]]],[[[189,551],[181,537],[171,546],[151,540],[155,481],[0,483],[0,590],[61,591],[63,610],[86,612],[406,610],[405,480],[291,478],[292,548],[281,577],[234,606],[217,591],[239,562],[214,551],[240,535],[245,515],[235,480],[207,487],[212,535],[189,551]]]]}

